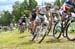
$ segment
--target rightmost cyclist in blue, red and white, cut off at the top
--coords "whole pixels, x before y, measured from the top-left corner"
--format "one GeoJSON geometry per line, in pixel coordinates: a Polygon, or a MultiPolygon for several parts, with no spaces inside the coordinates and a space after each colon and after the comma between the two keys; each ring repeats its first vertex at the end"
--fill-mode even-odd
{"type": "MultiPolygon", "coordinates": [[[[75,12],[75,0],[66,0],[61,9],[59,10],[60,22],[62,22],[69,12],[75,12]]],[[[66,28],[64,29],[64,33],[66,32],[66,28]]],[[[63,34],[66,36],[66,34],[63,34]]]]}

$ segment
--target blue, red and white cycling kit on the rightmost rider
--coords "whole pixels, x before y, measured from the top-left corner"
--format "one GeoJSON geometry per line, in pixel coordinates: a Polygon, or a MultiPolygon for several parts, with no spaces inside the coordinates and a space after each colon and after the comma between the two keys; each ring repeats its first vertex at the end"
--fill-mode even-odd
{"type": "Polygon", "coordinates": [[[59,10],[60,12],[60,15],[63,16],[64,13],[68,13],[68,12],[73,12],[75,8],[75,2],[74,3],[71,3],[70,0],[65,0],[65,3],[64,5],[62,6],[62,9],[59,10]]]}

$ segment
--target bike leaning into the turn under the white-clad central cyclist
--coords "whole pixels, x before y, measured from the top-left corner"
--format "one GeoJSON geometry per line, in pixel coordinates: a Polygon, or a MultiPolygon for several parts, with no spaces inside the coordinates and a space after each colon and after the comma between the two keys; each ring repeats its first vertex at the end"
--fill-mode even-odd
{"type": "Polygon", "coordinates": [[[47,28],[47,23],[44,23],[44,20],[41,19],[41,22],[38,22],[38,26],[36,27],[36,31],[34,32],[32,41],[35,41],[36,43],[41,43],[48,32],[47,28]]]}

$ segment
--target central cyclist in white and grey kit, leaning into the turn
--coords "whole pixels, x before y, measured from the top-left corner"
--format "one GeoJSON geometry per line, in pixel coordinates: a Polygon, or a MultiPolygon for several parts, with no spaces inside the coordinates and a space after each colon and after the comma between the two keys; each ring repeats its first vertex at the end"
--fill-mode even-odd
{"type": "MultiPolygon", "coordinates": [[[[36,30],[37,24],[40,21],[46,21],[47,22],[47,17],[45,15],[48,15],[50,17],[50,9],[51,9],[51,4],[47,3],[45,7],[39,8],[36,10],[36,19],[34,21],[34,27],[33,27],[33,33],[36,30]]],[[[51,18],[52,20],[52,18],[51,18]]],[[[47,22],[48,23],[48,22],[47,22]]]]}

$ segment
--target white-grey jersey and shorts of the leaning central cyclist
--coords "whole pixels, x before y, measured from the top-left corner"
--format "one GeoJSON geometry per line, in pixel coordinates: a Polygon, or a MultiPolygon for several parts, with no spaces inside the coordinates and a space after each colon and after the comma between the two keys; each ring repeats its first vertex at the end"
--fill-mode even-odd
{"type": "Polygon", "coordinates": [[[44,22],[47,23],[47,17],[46,17],[47,14],[50,14],[50,10],[47,11],[46,7],[40,8],[40,14],[38,16],[36,16],[35,21],[41,22],[43,20],[44,22]]]}

